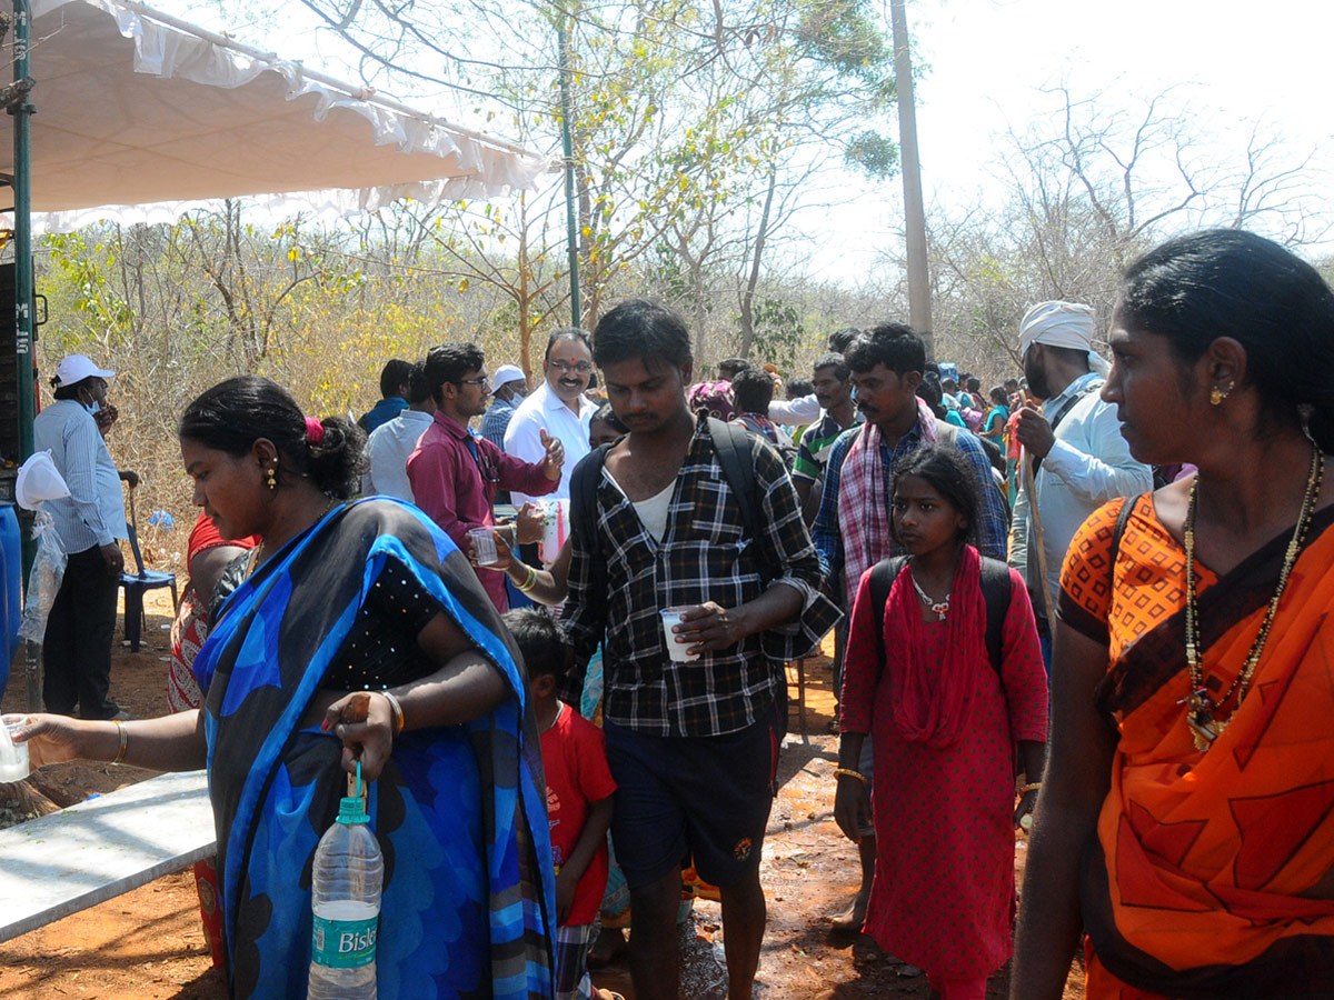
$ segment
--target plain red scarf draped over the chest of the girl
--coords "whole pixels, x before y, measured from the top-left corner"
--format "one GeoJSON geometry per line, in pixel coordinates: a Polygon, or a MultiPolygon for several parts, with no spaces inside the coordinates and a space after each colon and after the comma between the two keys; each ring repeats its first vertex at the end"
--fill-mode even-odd
{"type": "Polygon", "coordinates": [[[972,711],[978,672],[984,669],[987,605],[982,560],[972,545],[959,553],[944,617],[944,649],[922,655],[927,624],[912,587],[911,563],[898,575],[884,604],[884,673],[894,728],[910,743],[944,749],[958,743],[972,711]]]}

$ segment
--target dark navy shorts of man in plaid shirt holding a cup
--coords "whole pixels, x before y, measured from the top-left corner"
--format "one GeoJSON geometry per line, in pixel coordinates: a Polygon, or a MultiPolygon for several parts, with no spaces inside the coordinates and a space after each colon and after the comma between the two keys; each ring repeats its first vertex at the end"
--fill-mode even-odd
{"type": "Polygon", "coordinates": [[[726,736],[648,736],[604,723],[616,779],[611,837],[631,889],[691,859],[719,888],[759,865],[784,723],[776,705],[726,736]]]}

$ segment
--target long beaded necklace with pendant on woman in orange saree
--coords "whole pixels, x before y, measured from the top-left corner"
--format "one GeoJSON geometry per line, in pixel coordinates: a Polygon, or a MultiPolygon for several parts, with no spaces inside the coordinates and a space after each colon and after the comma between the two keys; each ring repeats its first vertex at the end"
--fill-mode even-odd
{"type": "Polygon", "coordinates": [[[1259,665],[1261,653],[1265,652],[1269,629],[1273,627],[1274,616],[1278,613],[1278,603],[1287,588],[1287,579],[1297,564],[1297,557],[1306,544],[1306,532],[1311,527],[1311,516],[1315,512],[1315,501],[1321,495],[1323,480],[1325,455],[1317,447],[1311,452],[1311,472],[1306,479],[1306,495],[1302,497],[1302,509],[1297,515],[1297,527],[1293,528],[1293,537],[1287,543],[1283,567],[1278,572],[1278,587],[1274,589],[1274,596],[1269,600],[1265,623],[1261,625],[1255,641],[1251,643],[1250,655],[1247,655],[1242,669],[1233,679],[1231,687],[1217,701],[1209,693],[1209,688],[1205,687],[1205,675],[1199,665],[1199,628],[1197,623],[1199,612],[1195,596],[1195,497],[1199,477],[1197,476],[1190,484],[1190,505],[1186,508],[1183,531],[1186,539],[1186,672],[1190,679],[1190,693],[1178,701],[1178,704],[1186,705],[1186,725],[1190,727],[1191,736],[1195,740],[1195,749],[1202,753],[1214,745],[1214,740],[1218,739],[1227,727],[1227,723],[1231,721],[1231,716],[1226,720],[1214,719],[1214,713],[1222,709],[1235,692],[1237,704],[1233,707],[1233,715],[1235,715],[1237,708],[1242,704],[1242,699],[1246,697],[1246,692],[1250,689],[1251,677],[1259,665]]]}

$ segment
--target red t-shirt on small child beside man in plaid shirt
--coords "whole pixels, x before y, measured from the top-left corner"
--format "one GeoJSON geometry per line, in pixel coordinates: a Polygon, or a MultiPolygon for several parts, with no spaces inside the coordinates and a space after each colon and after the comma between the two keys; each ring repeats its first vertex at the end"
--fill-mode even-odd
{"type": "MultiPolygon", "coordinates": [[[[547,772],[547,823],[551,824],[551,855],[560,867],[579,843],[588,807],[616,791],[607,768],[602,729],[562,704],[556,721],[542,733],[542,765],[547,772]]],[[[575,903],[564,927],[591,924],[607,891],[607,843],[588,863],[575,889],[575,903]]]]}

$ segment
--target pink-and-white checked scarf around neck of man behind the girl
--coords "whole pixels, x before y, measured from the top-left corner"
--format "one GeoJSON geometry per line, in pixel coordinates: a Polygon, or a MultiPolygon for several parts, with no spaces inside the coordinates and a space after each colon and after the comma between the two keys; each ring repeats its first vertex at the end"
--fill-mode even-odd
{"type": "MultiPolygon", "coordinates": [[[[935,413],[918,403],[918,432],[922,441],[935,444],[935,413]]],[[[852,440],[843,460],[838,484],[838,527],[843,536],[844,593],[851,601],[862,573],[879,563],[892,545],[890,539],[890,497],[884,492],[884,468],[880,463],[880,429],[871,421],[852,440]]]]}

